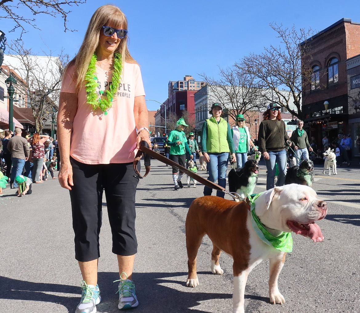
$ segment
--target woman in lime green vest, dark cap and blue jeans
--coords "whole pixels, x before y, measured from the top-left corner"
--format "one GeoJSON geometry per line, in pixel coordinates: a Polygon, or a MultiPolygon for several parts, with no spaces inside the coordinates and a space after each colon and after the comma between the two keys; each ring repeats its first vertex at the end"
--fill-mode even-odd
{"type": "MultiPolygon", "coordinates": [[[[212,117],[203,123],[201,149],[208,162],[209,177],[212,182],[218,181],[221,187],[226,187],[226,169],[228,168],[229,152],[232,162],[236,162],[233,136],[230,125],[221,117],[222,105],[214,103],[209,111],[212,117]]],[[[212,188],[204,187],[204,196],[210,196],[212,188]]],[[[216,191],[218,197],[224,198],[224,192],[216,191]]]]}

